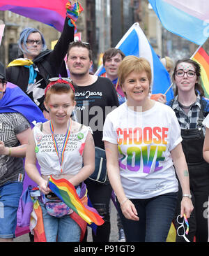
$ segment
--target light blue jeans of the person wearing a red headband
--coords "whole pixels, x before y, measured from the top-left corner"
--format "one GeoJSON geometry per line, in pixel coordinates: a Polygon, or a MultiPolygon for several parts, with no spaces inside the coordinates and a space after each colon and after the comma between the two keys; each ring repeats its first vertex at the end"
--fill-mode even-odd
{"type": "Polygon", "coordinates": [[[70,215],[56,218],[49,215],[44,204],[39,201],[47,242],[79,242],[81,229],[70,215]]]}

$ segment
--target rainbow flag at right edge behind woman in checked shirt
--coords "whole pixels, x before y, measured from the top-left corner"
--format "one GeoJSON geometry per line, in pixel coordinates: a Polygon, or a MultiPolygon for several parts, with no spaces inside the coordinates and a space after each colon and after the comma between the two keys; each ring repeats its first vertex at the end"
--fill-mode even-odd
{"type": "Polygon", "coordinates": [[[201,66],[201,84],[206,97],[209,98],[209,56],[207,52],[199,46],[191,59],[201,66]]]}

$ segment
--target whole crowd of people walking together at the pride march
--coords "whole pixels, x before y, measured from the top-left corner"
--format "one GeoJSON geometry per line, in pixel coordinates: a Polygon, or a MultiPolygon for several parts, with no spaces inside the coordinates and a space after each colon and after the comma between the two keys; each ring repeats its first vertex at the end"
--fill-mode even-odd
{"type": "Polygon", "coordinates": [[[67,6],[54,50],[26,28],[20,56],[6,69],[0,64],[0,241],[15,238],[25,171],[37,185],[31,199],[40,206],[42,241],[87,241],[86,222],[49,189],[49,177],[68,180],[102,217],[94,242],[109,241],[111,197],[119,241],[165,242],[172,222],[177,242],[208,241],[209,100],[199,64],[161,59],[175,85],[169,102],[150,97],[145,58],[110,48],[106,73],[95,76],[91,46],[74,41],[69,13],[77,3],[67,6]]]}

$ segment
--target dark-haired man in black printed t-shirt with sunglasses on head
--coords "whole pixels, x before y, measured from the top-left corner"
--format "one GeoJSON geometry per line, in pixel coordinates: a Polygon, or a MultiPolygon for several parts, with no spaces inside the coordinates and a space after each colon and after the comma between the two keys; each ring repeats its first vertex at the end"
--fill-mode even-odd
{"type": "MultiPolygon", "coordinates": [[[[90,126],[93,130],[95,146],[104,149],[102,130],[106,115],[114,110],[118,104],[118,97],[114,85],[108,78],[91,75],[92,56],[88,43],[72,42],[68,48],[67,66],[70,78],[75,86],[75,100],[77,101],[77,121],[90,126]]],[[[97,228],[93,241],[108,242],[110,234],[109,201],[111,185],[87,179],[88,196],[103,217],[104,224],[97,228]]]]}

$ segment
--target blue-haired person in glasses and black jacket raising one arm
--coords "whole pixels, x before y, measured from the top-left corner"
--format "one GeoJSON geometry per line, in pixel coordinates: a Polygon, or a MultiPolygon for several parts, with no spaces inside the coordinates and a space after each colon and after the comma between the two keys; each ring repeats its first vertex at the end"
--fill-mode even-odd
{"type": "Polygon", "coordinates": [[[6,69],[7,80],[18,85],[29,95],[47,118],[49,115],[43,102],[48,78],[59,74],[68,77],[63,60],[68,44],[74,39],[75,17],[83,10],[76,2],[72,0],[72,4],[66,3],[67,12],[63,31],[54,50],[47,49],[45,38],[38,29],[28,27],[20,33],[19,57],[10,62],[6,69]]]}

